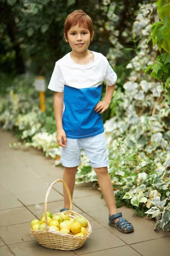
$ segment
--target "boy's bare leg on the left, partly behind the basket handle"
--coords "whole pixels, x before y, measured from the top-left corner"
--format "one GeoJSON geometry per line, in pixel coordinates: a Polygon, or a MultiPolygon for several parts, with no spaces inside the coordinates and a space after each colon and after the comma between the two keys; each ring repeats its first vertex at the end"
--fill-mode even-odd
{"type": "MultiPolygon", "coordinates": [[[[77,168],[78,168],[78,166],[64,168],[63,180],[65,181],[65,183],[67,184],[67,186],[70,190],[71,198],[73,198],[73,191],[74,191],[75,176],[76,176],[77,168]]],[[[63,194],[64,194],[64,207],[63,208],[69,209],[70,201],[68,198],[67,190],[65,189],[64,185],[63,185],[63,194]]]]}

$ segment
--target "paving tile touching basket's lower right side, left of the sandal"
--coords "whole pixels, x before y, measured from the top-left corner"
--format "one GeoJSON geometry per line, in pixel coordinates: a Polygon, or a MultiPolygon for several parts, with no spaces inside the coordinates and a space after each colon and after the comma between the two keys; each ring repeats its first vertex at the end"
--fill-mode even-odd
{"type": "Polygon", "coordinates": [[[83,253],[92,253],[123,245],[125,245],[125,243],[110,231],[105,228],[100,228],[98,230],[93,230],[91,236],[87,239],[83,247],[75,250],[75,252],[78,255],[81,255],[83,253]]]}

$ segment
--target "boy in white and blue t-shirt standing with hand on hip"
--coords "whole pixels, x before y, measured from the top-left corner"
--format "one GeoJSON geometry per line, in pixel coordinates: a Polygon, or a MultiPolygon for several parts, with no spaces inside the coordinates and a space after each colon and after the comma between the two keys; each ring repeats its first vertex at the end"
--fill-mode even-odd
{"type": "MultiPolygon", "coordinates": [[[[57,125],[57,143],[61,147],[61,163],[65,166],[63,180],[73,197],[75,175],[83,148],[94,168],[100,189],[109,210],[109,225],[122,233],[133,232],[133,226],[117,211],[111,177],[102,113],[108,109],[116,84],[116,73],[107,58],[89,51],[94,31],[91,18],[82,10],[68,15],[64,36],[72,51],[59,59],[54,67],[48,88],[54,91],[54,113],[57,125]],[[100,101],[102,82],[106,93],[100,101]]],[[[64,208],[69,209],[65,187],[64,208]]]]}

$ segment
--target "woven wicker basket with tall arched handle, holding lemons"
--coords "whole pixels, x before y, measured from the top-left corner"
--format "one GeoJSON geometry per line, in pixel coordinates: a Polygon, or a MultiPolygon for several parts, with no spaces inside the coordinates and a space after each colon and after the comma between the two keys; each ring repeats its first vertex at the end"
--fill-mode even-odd
{"type": "MultiPolygon", "coordinates": [[[[53,230],[48,226],[47,222],[47,199],[49,192],[51,188],[54,186],[55,183],[57,182],[62,182],[67,190],[68,193],[68,198],[70,201],[70,209],[68,211],[64,211],[68,213],[70,218],[78,218],[82,217],[82,215],[74,212],[73,206],[72,206],[72,200],[71,200],[71,195],[70,191],[68,189],[67,184],[65,183],[64,180],[55,180],[48,188],[46,196],[45,196],[45,203],[44,203],[44,212],[45,212],[45,225],[46,228],[45,230],[32,230],[30,229],[30,233],[34,235],[35,239],[39,242],[40,245],[51,248],[51,249],[57,249],[57,250],[75,250],[83,246],[85,241],[88,239],[88,237],[91,235],[91,225],[88,221],[87,226],[85,227],[87,229],[87,233],[83,236],[74,236],[71,234],[64,234],[59,231],[53,230]]],[[[58,212],[54,215],[61,214],[61,212],[58,212]]],[[[54,216],[53,215],[53,216],[54,216]]]]}

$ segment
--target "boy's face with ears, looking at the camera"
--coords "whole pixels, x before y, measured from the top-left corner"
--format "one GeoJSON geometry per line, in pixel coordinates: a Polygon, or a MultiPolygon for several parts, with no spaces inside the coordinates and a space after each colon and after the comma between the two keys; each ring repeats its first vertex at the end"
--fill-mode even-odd
{"type": "Polygon", "coordinates": [[[68,40],[65,37],[66,42],[68,42],[72,50],[75,50],[76,52],[84,52],[93,38],[91,38],[91,34],[88,29],[79,27],[78,25],[72,26],[70,30],[68,30],[67,37],[68,40]]]}

